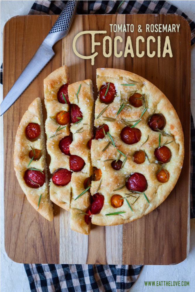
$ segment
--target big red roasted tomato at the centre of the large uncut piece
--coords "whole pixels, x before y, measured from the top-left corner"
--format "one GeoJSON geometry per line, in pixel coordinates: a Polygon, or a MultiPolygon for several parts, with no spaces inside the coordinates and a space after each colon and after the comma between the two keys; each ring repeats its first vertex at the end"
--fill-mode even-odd
{"type": "Polygon", "coordinates": [[[126,144],[135,144],[141,139],[141,131],[138,128],[126,126],[120,132],[121,140],[126,144]]]}

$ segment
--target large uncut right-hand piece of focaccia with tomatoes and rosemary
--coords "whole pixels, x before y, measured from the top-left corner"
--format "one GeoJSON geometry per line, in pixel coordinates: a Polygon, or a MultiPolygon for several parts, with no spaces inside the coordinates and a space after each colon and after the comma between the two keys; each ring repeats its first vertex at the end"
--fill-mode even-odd
{"type": "Polygon", "coordinates": [[[94,125],[98,131],[102,125],[108,127],[105,136],[96,135],[92,140],[92,166],[99,168],[102,176],[100,181],[92,181],[91,194],[98,190],[104,200],[101,211],[91,218],[96,225],[118,225],[146,215],[168,197],[181,172],[184,137],[172,104],[148,80],[124,70],[101,68],[97,69],[96,81],[100,93],[94,125]],[[135,107],[139,101],[140,106],[135,107]],[[133,138],[131,131],[136,132],[133,138]],[[161,159],[157,155],[159,149],[162,152],[165,149],[162,147],[170,156],[165,163],[161,160],[166,157],[161,159]],[[137,164],[134,155],[140,150],[144,159],[137,164]],[[122,164],[118,170],[112,166],[117,159],[122,164]],[[146,183],[139,191],[141,178],[146,183]],[[119,195],[118,205],[113,204],[114,195],[119,195]]]}

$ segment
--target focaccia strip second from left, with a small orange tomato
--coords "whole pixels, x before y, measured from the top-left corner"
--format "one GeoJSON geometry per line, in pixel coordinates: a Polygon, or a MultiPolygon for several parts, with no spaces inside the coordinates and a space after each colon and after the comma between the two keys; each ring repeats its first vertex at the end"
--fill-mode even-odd
{"type": "MultiPolygon", "coordinates": [[[[70,112],[68,100],[68,68],[60,67],[44,79],[45,107],[47,119],[47,151],[51,157],[49,170],[51,174],[61,169],[70,171],[69,155],[62,152],[61,141],[70,134],[70,112]]],[[[70,139],[70,137],[69,137],[70,139]]],[[[52,176],[53,177],[53,176],[52,176]]],[[[50,199],[65,210],[70,209],[71,187],[56,185],[50,181],[50,199]]]]}

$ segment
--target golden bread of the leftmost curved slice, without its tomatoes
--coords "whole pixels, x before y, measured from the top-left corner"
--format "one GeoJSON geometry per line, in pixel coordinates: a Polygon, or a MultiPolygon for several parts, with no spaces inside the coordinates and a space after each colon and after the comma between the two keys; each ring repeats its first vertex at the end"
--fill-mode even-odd
{"type": "Polygon", "coordinates": [[[48,178],[47,178],[47,165],[45,156],[45,139],[44,139],[44,125],[42,116],[42,105],[40,98],[36,98],[28,107],[28,110],[23,115],[20,125],[18,127],[16,137],[15,137],[15,147],[14,147],[14,169],[15,174],[25,193],[28,201],[38,211],[44,218],[51,221],[53,219],[53,206],[49,199],[48,194],[48,178]],[[30,141],[26,138],[25,128],[29,123],[37,123],[40,126],[41,134],[39,138],[35,141],[30,141]],[[46,181],[37,189],[28,187],[24,181],[24,173],[30,162],[29,152],[31,147],[34,149],[42,149],[42,156],[39,160],[30,163],[30,168],[37,168],[45,172],[46,181]],[[41,195],[40,203],[39,198],[41,195]],[[39,208],[38,208],[39,203],[39,208]]]}

